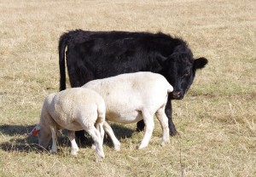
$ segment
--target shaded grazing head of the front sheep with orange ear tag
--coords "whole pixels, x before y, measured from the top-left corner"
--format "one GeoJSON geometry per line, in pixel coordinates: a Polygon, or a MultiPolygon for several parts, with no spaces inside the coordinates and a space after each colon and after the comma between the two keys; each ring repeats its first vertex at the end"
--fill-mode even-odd
{"type": "Polygon", "coordinates": [[[37,125],[35,128],[32,129],[30,132],[32,136],[38,136],[38,144],[47,148],[49,146],[49,142],[51,140],[51,132],[49,128],[42,127],[37,125]]]}

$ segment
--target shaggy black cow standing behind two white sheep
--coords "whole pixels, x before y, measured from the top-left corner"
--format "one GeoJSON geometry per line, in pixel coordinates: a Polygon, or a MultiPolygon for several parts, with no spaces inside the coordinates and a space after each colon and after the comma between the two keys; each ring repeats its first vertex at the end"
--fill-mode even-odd
{"type": "MultiPolygon", "coordinates": [[[[59,42],[61,90],[66,88],[66,47],[71,87],[80,87],[94,79],[137,71],[152,71],[166,77],[174,88],[166,105],[172,135],[177,134],[177,131],[172,123],[171,100],[183,99],[193,83],[195,71],[208,62],[206,58],[194,59],[188,44],[181,38],[161,32],[69,31],[60,37],[59,42]]],[[[137,123],[137,130],[143,128],[143,122],[137,123]]]]}

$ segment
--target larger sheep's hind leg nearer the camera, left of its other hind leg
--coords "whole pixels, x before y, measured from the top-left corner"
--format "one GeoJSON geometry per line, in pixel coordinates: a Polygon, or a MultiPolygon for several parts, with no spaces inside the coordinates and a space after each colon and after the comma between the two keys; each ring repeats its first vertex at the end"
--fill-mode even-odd
{"type": "Polygon", "coordinates": [[[145,134],[138,149],[143,149],[144,147],[148,146],[148,142],[154,129],[154,117],[148,111],[143,111],[143,121],[145,123],[145,134]]]}

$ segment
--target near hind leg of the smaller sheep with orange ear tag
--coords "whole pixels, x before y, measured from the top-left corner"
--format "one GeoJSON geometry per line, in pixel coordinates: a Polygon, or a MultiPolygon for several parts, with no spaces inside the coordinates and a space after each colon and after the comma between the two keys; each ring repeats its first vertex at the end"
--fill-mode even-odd
{"type": "Polygon", "coordinates": [[[94,140],[94,143],[96,146],[96,153],[100,157],[105,157],[103,147],[102,147],[102,137],[100,132],[94,126],[90,126],[90,127],[84,126],[84,129],[88,134],[90,134],[92,140],[94,140]]]}

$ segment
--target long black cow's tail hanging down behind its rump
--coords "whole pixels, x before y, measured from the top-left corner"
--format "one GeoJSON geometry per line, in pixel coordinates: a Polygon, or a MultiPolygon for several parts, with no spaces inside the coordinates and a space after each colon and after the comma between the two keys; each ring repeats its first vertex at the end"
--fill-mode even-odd
{"type": "Polygon", "coordinates": [[[65,49],[68,39],[68,33],[64,33],[59,40],[60,91],[66,89],[65,49]]]}

